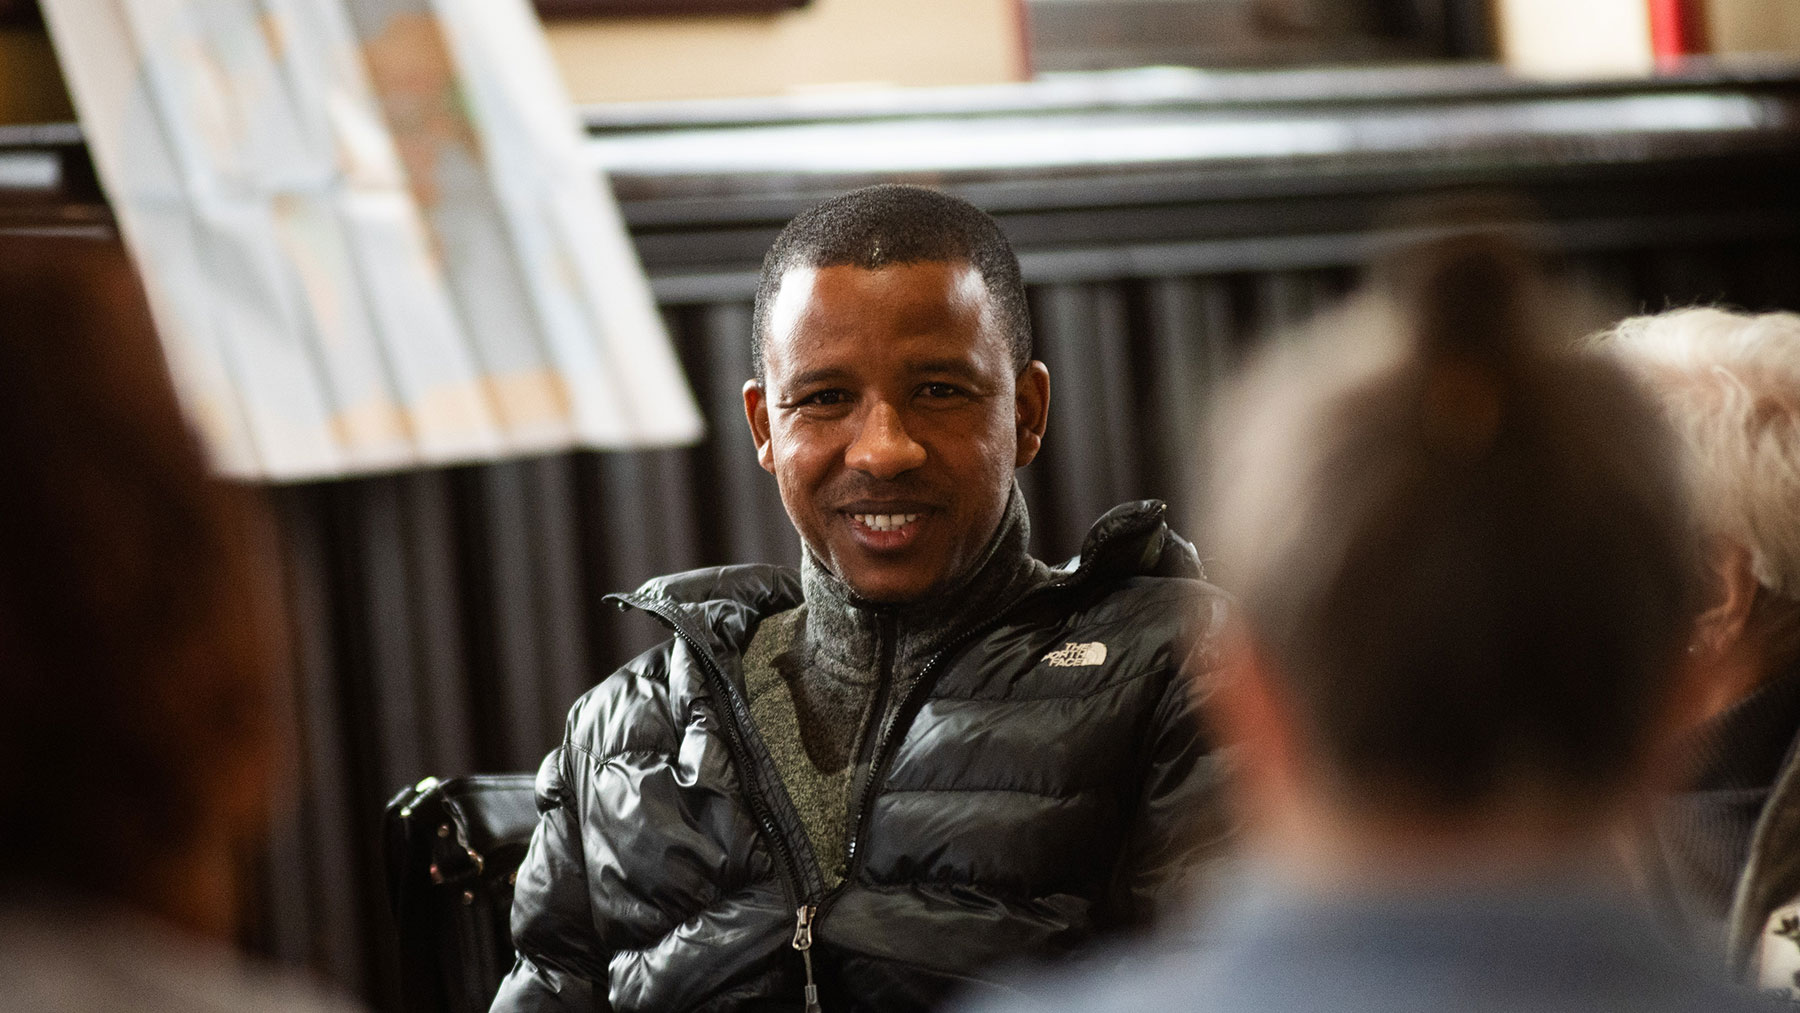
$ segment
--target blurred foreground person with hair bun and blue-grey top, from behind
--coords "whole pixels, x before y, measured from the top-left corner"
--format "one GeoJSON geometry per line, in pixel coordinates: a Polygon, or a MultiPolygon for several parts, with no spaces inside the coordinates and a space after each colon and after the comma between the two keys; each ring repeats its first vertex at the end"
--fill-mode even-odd
{"type": "Polygon", "coordinates": [[[1519,252],[1399,268],[1213,441],[1249,869],[1204,932],[1006,1009],[1760,1008],[1665,946],[1615,847],[1692,705],[1672,434],[1519,252]]]}

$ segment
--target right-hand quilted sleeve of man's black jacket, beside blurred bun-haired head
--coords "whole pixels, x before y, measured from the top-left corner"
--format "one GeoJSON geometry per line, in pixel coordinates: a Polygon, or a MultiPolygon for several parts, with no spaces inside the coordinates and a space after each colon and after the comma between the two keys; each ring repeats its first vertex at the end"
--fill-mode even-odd
{"type": "Polygon", "coordinates": [[[1217,617],[1202,615],[1202,626],[1184,651],[1186,664],[1170,673],[1145,741],[1145,775],[1116,880],[1116,907],[1129,927],[1159,921],[1202,894],[1235,835],[1224,801],[1226,758],[1210,743],[1193,682],[1213,660],[1217,617]]]}

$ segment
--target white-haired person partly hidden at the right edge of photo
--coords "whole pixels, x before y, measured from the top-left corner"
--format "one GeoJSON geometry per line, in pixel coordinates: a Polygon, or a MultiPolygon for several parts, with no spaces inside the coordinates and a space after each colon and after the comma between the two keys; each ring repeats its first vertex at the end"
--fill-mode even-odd
{"type": "Polygon", "coordinates": [[[1705,675],[1683,788],[1654,811],[1658,898],[1748,981],[1800,972],[1800,315],[1634,317],[1595,344],[1629,363],[1681,435],[1697,506],[1705,675]]]}

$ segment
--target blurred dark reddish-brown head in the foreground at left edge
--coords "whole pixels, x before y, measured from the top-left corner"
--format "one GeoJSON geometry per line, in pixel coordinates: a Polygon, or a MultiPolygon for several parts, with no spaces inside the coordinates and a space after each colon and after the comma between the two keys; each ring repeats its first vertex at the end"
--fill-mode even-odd
{"type": "Polygon", "coordinates": [[[124,252],[0,243],[0,885],[229,936],[274,608],[124,252]]]}

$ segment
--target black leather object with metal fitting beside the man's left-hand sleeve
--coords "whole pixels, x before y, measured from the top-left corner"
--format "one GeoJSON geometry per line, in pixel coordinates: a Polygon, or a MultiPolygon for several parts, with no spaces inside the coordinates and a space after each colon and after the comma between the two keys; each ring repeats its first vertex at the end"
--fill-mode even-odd
{"type": "Polygon", "coordinates": [[[387,802],[387,892],[409,1013],[486,1013],[513,966],[513,878],[538,826],[529,774],[427,777],[387,802]]]}

